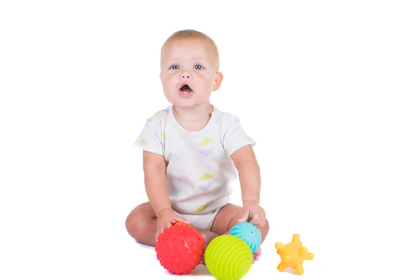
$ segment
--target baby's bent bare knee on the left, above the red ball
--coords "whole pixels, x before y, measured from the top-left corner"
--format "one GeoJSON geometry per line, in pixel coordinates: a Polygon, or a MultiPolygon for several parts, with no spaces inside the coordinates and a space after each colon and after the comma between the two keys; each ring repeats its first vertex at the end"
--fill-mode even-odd
{"type": "Polygon", "coordinates": [[[125,228],[137,241],[148,246],[156,246],[156,215],[150,202],[140,204],[128,214],[125,228]]]}

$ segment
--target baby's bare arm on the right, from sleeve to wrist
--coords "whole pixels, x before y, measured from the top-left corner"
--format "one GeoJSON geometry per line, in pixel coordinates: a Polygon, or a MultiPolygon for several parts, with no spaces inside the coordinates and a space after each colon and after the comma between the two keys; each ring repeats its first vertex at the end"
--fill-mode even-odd
{"type": "Polygon", "coordinates": [[[251,145],[239,148],[232,154],[232,160],[238,170],[241,185],[242,202],[260,203],[261,176],[255,153],[251,145]]]}

